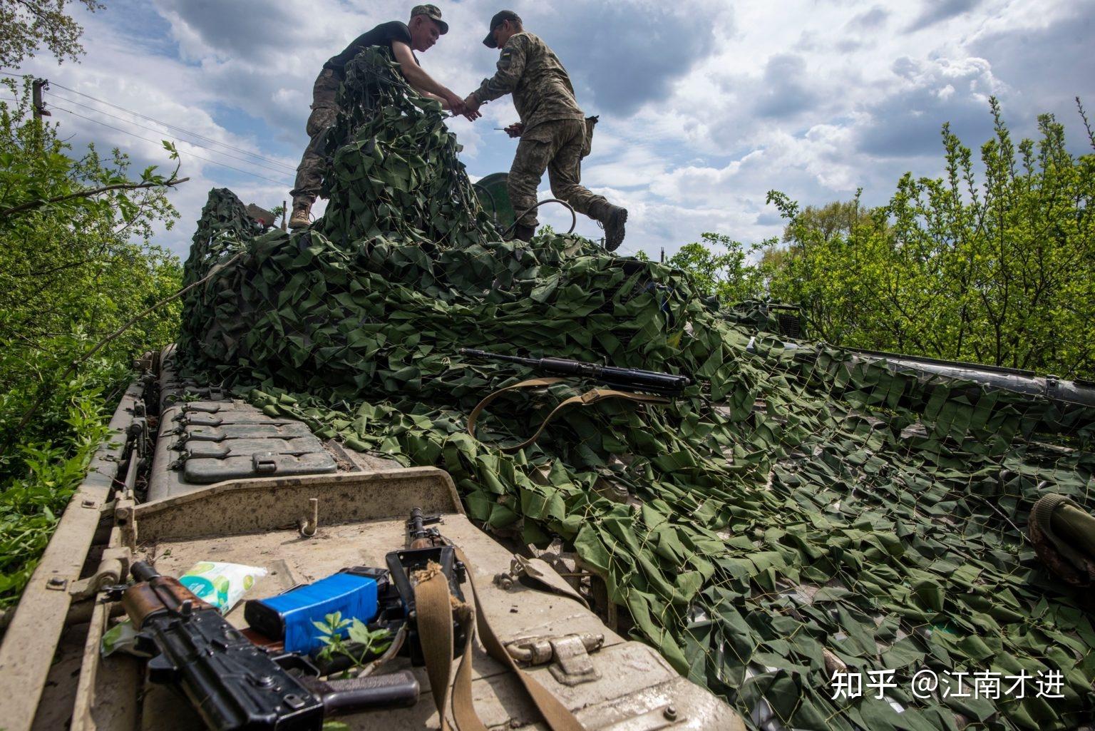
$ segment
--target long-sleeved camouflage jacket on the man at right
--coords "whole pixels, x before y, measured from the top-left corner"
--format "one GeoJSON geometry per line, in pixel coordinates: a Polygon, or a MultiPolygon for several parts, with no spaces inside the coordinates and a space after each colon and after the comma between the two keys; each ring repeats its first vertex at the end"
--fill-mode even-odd
{"type": "Polygon", "coordinates": [[[498,58],[498,71],[475,91],[481,102],[514,94],[514,106],[526,134],[552,119],[584,119],[574,99],[570,77],[539,36],[528,32],[510,36],[498,58]]]}

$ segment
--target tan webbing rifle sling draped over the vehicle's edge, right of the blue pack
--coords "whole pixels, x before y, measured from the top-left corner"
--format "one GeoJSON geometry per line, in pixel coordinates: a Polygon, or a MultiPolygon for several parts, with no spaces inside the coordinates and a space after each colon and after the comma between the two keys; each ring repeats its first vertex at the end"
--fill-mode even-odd
{"type": "Polygon", "coordinates": [[[532,675],[521,670],[517,661],[506,651],[491,628],[486,614],[480,604],[479,593],[475,591],[475,582],[472,578],[474,570],[464,552],[459,548],[456,550],[457,558],[466,568],[472,605],[452,601],[448,579],[440,571],[440,567],[437,567],[436,571],[423,572],[423,578],[415,585],[418,637],[422,640],[423,655],[426,660],[426,675],[429,677],[434,703],[437,705],[441,731],[449,731],[452,728],[446,719],[446,709],[450,699],[453,726],[457,731],[487,731],[486,726],[475,712],[472,701],[472,648],[475,643],[476,628],[479,628],[480,639],[487,652],[517,675],[532,704],[552,731],[586,731],[574,713],[540,685],[532,675]],[[473,618],[474,621],[472,621],[473,618]],[[449,678],[452,675],[453,663],[453,619],[465,629],[468,641],[464,644],[464,652],[450,689],[449,678]]]}

